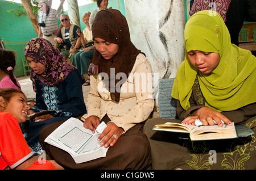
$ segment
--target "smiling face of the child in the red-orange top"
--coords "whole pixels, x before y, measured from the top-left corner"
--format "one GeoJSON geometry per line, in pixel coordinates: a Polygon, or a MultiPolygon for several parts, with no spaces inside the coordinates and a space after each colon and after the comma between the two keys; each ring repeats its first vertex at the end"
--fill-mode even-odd
{"type": "Polygon", "coordinates": [[[27,106],[26,98],[22,93],[14,94],[14,96],[11,97],[10,102],[3,107],[5,107],[3,112],[13,114],[19,124],[26,121],[28,110],[30,109],[30,107],[27,106]]]}

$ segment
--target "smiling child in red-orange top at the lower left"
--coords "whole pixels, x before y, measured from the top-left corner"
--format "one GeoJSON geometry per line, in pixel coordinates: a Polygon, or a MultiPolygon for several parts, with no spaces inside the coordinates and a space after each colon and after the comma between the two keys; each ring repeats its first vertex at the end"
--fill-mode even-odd
{"type": "MultiPolygon", "coordinates": [[[[26,96],[14,88],[0,90],[0,170],[55,170],[56,162],[32,157],[19,124],[26,121],[26,96]]],[[[60,168],[57,166],[57,168],[60,168]]]]}

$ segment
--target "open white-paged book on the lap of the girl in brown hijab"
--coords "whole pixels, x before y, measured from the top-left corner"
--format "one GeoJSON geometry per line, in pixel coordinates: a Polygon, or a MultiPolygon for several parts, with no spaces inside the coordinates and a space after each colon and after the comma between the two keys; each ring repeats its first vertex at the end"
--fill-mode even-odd
{"type": "Polygon", "coordinates": [[[97,140],[105,127],[106,124],[102,121],[93,134],[90,129],[84,128],[82,121],[71,117],[49,134],[44,141],[67,151],[76,163],[87,162],[106,156],[108,148],[100,146],[101,141],[97,140]]]}

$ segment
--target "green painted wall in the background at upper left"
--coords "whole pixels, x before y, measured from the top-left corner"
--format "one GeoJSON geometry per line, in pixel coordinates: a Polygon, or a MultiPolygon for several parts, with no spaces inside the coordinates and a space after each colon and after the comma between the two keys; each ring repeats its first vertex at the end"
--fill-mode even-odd
{"type": "MultiPolygon", "coordinates": [[[[119,10],[125,15],[125,2],[119,1],[119,10]]],[[[16,17],[13,13],[7,12],[11,9],[19,9],[19,3],[10,3],[9,1],[0,0],[0,38],[4,41],[6,49],[16,52],[16,68],[14,74],[16,77],[24,76],[22,59],[24,59],[24,48],[27,42],[36,37],[36,33],[28,16],[16,17]]],[[[108,7],[118,9],[117,0],[109,0],[108,7]]],[[[81,29],[86,27],[82,22],[82,14],[86,11],[92,12],[97,9],[97,3],[90,3],[79,7],[81,29]]],[[[61,12],[63,13],[63,12],[61,12]]],[[[65,11],[67,13],[67,11],[65,11]]],[[[58,21],[60,24],[60,20],[58,21]]]]}

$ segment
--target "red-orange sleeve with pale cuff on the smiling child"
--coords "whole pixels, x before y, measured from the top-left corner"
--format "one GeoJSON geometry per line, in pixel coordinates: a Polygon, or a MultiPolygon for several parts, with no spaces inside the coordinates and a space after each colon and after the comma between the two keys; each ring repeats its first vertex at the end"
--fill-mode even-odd
{"type": "Polygon", "coordinates": [[[0,112],[0,134],[0,169],[14,169],[34,154],[11,113],[0,112]]]}

